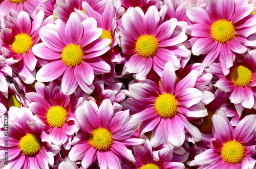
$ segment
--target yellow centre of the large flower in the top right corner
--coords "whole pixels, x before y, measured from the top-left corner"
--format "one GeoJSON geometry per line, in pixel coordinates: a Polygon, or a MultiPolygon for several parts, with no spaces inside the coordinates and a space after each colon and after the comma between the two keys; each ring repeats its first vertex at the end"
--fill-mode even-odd
{"type": "Polygon", "coordinates": [[[231,21],[218,19],[211,24],[211,36],[219,43],[227,43],[231,39],[237,37],[234,25],[231,21]]]}

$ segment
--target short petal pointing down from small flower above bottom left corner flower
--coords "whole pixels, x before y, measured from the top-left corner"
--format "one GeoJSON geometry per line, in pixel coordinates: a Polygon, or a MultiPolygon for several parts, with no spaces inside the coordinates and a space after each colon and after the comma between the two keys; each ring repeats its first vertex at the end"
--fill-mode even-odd
{"type": "Polygon", "coordinates": [[[68,136],[62,128],[55,127],[49,133],[49,138],[56,146],[62,146],[65,142],[67,142],[68,136]]]}

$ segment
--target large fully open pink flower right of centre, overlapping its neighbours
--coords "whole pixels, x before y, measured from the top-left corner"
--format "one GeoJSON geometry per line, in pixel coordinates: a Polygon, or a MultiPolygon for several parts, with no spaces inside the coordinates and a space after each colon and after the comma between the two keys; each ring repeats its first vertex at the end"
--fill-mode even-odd
{"type": "Polygon", "coordinates": [[[151,144],[157,147],[166,141],[173,146],[181,146],[185,140],[185,132],[198,142],[201,139],[200,131],[190,124],[187,117],[201,118],[207,115],[207,110],[200,100],[203,93],[194,88],[198,71],[191,71],[180,82],[172,63],[165,64],[161,77],[161,90],[155,82],[134,83],[129,91],[134,100],[145,109],[132,117],[142,122],[140,137],[145,132],[152,131],[151,144]]]}

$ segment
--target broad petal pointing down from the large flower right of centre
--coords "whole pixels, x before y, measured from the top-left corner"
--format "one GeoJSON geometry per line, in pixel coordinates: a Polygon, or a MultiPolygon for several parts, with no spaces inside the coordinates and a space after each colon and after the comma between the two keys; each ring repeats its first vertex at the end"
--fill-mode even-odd
{"type": "Polygon", "coordinates": [[[164,139],[174,146],[180,147],[185,140],[185,131],[182,120],[175,116],[172,119],[161,120],[164,139]]]}

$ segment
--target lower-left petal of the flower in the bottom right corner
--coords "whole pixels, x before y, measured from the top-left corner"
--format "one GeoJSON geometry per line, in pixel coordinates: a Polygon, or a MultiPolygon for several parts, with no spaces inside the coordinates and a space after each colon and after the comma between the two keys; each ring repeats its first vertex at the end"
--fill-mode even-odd
{"type": "Polygon", "coordinates": [[[200,165],[214,164],[221,159],[221,155],[212,149],[208,149],[195,157],[195,162],[200,165]]]}

